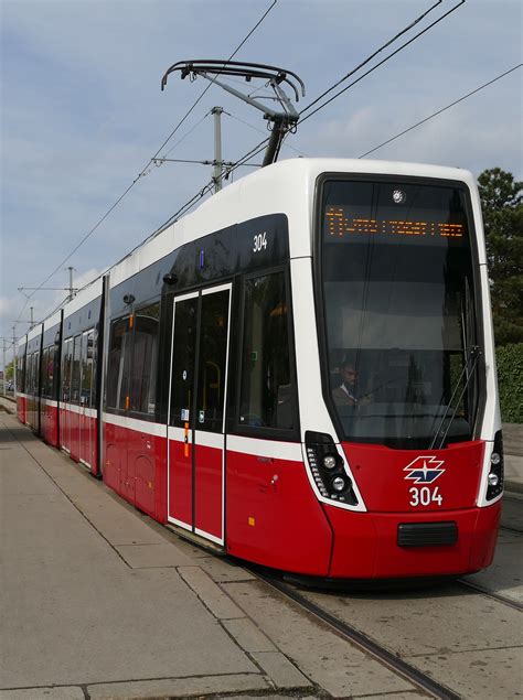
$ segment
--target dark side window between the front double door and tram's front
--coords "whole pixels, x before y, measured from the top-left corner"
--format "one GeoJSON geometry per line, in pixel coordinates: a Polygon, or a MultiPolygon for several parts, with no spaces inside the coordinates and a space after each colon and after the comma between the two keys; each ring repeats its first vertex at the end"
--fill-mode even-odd
{"type": "Polygon", "coordinates": [[[284,272],[245,280],[239,424],[295,428],[288,301],[284,272]]]}

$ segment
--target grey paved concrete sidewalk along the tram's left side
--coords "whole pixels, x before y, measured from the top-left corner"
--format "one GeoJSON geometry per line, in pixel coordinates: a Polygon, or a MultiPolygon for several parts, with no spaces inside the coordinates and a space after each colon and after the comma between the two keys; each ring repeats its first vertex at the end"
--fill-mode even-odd
{"type": "Polygon", "coordinates": [[[218,559],[6,413],[0,461],[2,700],[314,690],[206,573],[218,559]]]}

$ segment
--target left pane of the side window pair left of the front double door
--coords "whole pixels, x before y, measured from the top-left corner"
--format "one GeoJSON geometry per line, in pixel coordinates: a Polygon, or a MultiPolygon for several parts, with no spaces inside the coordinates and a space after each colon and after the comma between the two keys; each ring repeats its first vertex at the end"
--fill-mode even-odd
{"type": "Polygon", "coordinates": [[[110,325],[110,349],[107,367],[107,408],[125,410],[129,387],[131,329],[129,316],[110,325]]]}

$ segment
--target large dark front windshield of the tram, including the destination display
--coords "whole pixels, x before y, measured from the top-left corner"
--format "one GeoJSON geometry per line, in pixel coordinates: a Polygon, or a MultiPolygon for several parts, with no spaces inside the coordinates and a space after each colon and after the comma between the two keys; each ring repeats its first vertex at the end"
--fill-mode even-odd
{"type": "Polygon", "coordinates": [[[462,185],[324,183],[324,364],[345,440],[427,449],[471,439],[471,233],[462,185]]]}

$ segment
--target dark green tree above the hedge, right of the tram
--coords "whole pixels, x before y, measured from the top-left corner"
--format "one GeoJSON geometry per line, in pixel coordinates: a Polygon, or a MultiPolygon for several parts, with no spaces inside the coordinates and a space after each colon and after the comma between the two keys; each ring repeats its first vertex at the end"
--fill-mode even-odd
{"type": "Polygon", "coordinates": [[[495,344],[523,343],[522,182],[492,168],[478,177],[491,281],[495,344]]]}

